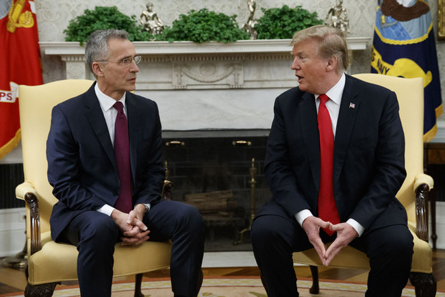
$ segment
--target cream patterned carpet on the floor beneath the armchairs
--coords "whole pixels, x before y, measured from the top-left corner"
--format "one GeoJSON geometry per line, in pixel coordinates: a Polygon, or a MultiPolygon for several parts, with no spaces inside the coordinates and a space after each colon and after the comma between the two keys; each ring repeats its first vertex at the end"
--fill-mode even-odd
{"type": "MultiPolygon", "coordinates": [[[[356,283],[340,283],[333,281],[320,281],[320,294],[309,294],[312,281],[298,280],[298,291],[301,297],[307,296],[331,296],[352,297],[364,296],[366,285],[356,283]]],[[[133,296],[134,283],[117,282],[113,284],[112,297],[133,296]]],[[[169,279],[144,279],[142,293],[146,297],[173,297],[169,279]]],[[[2,294],[0,296],[23,296],[22,294],[2,294]]],[[[77,286],[58,286],[53,296],[73,297],[79,296],[77,286]]],[[[413,288],[405,288],[403,296],[416,296],[413,288]]],[[[444,293],[436,296],[445,297],[444,293]]],[[[199,297],[266,297],[266,292],[258,278],[245,277],[218,277],[205,278],[199,297]]]]}

